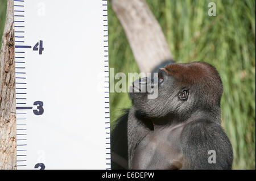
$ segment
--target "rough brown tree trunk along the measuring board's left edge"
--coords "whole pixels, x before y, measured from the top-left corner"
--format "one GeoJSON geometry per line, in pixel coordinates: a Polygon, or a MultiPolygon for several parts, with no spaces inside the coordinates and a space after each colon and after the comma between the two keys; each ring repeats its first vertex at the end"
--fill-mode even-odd
{"type": "Polygon", "coordinates": [[[0,169],[16,169],[14,1],[7,0],[0,52],[0,169]]]}

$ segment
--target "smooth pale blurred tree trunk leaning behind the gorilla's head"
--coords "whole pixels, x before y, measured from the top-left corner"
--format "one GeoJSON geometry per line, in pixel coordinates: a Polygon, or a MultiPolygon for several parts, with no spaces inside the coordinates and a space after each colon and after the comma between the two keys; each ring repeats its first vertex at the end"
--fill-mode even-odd
{"type": "Polygon", "coordinates": [[[162,29],[144,0],[111,3],[142,72],[152,72],[164,62],[173,61],[162,29]]]}

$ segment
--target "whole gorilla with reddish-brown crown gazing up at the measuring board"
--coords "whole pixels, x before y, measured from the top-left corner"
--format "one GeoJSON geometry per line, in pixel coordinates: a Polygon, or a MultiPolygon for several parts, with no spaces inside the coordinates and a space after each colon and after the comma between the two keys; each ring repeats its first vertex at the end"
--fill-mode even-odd
{"type": "MultiPolygon", "coordinates": [[[[153,79],[141,78],[139,87],[153,79]]],[[[158,97],[131,92],[133,107],[111,133],[112,169],[232,169],[233,152],[221,127],[222,82],[205,62],[159,69],[158,97]],[[210,162],[210,153],[216,162],[210,162]]],[[[152,81],[151,81],[152,80],[152,81]]]]}

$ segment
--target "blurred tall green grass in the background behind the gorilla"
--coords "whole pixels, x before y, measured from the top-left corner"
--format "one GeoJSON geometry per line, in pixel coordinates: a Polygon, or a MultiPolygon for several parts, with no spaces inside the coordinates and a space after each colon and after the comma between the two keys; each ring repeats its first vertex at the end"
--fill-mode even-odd
{"type": "MultiPolygon", "coordinates": [[[[222,121],[233,145],[233,169],[255,169],[255,1],[146,2],[177,62],[206,61],[219,71],[224,84],[222,121]],[[209,2],[216,3],[217,16],[208,16],[209,2]]],[[[108,13],[110,68],[115,73],[139,72],[110,5],[108,13]]],[[[0,0],[0,39],[5,15],[6,1],[0,0]]],[[[112,122],[130,106],[127,93],[111,93],[112,122]]]]}

